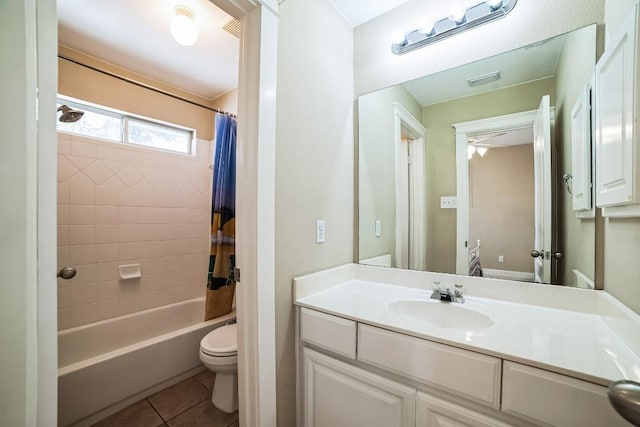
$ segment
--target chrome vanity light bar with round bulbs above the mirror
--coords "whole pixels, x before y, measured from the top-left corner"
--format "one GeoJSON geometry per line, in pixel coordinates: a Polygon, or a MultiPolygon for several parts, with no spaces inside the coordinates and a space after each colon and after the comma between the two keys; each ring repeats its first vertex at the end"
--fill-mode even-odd
{"type": "Polygon", "coordinates": [[[518,0],[487,0],[467,8],[464,16],[446,17],[433,23],[430,28],[419,28],[400,35],[394,40],[391,51],[402,55],[470,28],[478,27],[506,16],[518,0]]]}

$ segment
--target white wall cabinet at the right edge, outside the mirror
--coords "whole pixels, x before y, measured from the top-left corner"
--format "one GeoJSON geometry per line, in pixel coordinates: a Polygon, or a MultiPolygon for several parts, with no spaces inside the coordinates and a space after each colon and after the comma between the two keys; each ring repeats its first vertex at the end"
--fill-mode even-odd
{"type": "Polygon", "coordinates": [[[595,141],[598,207],[640,203],[637,5],[596,65],[595,141]]]}

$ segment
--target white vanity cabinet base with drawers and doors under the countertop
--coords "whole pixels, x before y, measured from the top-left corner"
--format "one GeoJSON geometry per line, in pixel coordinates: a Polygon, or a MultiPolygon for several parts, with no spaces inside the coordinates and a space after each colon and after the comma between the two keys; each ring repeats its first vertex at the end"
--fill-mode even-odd
{"type": "Polygon", "coordinates": [[[299,309],[301,427],[629,426],[607,388],[299,309]]]}

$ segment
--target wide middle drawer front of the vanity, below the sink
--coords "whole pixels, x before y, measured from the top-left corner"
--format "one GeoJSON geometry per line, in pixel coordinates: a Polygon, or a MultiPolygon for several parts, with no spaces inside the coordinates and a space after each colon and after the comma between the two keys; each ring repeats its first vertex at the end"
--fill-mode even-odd
{"type": "Polygon", "coordinates": [[[501,360],[358,325],[358,360],[499,409],[501,360]]]}

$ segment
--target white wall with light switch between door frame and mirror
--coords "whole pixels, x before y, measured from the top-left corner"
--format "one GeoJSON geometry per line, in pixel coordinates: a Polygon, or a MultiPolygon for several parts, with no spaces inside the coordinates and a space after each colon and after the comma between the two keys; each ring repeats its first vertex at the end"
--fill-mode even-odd
{"type": "Polygon", "coordinates": [[[292,279],[353,261],[353,44],[328,0],[283,2],[278,40],[277,425],[287,427],[296,425],[292,279]]]}

